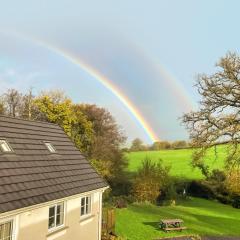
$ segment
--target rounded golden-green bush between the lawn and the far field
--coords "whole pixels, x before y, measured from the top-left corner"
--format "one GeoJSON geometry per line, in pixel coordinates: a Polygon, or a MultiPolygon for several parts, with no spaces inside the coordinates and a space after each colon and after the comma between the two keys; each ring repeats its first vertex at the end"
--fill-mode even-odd
{"type": "Polygon", "coordinates": [[[162,165],[161,160],[158,163],[154,163],[146,158],[138,169],[133,183],[133,195],[136,200],[155,203],[168,182],[169,170],[169,167],[162,165]]]}

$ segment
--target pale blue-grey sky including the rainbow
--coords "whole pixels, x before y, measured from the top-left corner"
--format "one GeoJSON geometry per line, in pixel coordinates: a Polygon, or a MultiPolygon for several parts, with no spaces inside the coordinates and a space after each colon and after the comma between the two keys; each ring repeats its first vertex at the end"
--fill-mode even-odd
{"type": "Polygon", "coordinates": [[[237,0],[0,0],[0,94],[60,89],[128,141],[188,139],[197,75],[239,51],[237,0]]]}

